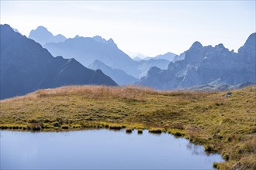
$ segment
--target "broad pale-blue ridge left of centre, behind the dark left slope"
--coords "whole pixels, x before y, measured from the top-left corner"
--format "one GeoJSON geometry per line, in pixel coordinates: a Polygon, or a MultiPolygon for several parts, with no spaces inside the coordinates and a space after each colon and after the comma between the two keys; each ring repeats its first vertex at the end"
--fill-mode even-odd
{"type": "Polygon", "coordinates": [[[98,59],[112,69],[124,70],[134,77],[139,75],[138,63],[123,53],[112,39],[102,39],[101,36],[75,36],[64,42],[47,43],[44,47],[54,56],[74,57],[84,66],[89,66],[98,59]]]}

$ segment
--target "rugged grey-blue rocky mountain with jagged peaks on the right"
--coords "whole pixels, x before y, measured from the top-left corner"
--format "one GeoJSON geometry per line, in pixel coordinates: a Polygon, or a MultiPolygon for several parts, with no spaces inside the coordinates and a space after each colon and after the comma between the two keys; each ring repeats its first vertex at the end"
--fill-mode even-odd
{"type": "Polygon", "coordinates": [[[182,53],[183,56],[179,56],[185,59],[171,62],[167,70],[151,68],[138,84],[174,90],[207,83],[214,86],[255,83],[255,38],[256,33],[251,34],[238,53],[229,51],[223,44],[213,47],[194,42],[189,50],[182,53]]]}

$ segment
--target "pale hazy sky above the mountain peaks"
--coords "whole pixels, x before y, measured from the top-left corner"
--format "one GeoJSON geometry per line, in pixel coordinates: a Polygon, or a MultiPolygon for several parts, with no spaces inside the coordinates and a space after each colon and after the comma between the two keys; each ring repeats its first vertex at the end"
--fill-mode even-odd
{"type": "Polygon", "coordinates": [[[45,26],[68,38],[112,38],[124,52],[182,53],[193,42],[244,45],[256,32],[255,1],[1,1],[1,24],[29,35],[45,26]]]}

